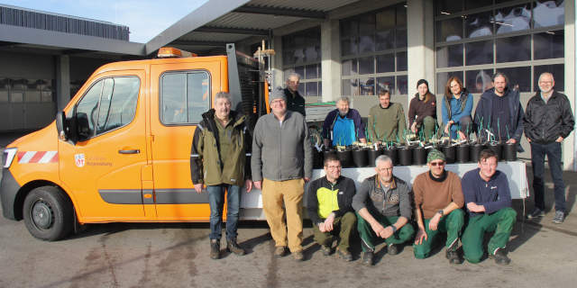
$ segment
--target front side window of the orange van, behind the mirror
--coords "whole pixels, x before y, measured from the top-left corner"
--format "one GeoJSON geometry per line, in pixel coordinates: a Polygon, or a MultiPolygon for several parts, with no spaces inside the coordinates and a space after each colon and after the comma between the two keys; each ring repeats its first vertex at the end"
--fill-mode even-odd
{"type": "Polygon", "coordinates": [[[78,102],[78,135],[89,139],[133,121],[140,91],[135,76],[105,78],[96,82],[78,102]]]}

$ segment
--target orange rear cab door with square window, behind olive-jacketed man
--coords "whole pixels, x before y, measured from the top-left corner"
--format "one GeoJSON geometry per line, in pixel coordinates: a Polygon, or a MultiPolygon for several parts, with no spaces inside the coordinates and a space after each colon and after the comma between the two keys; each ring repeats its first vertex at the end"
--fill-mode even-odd
{"type": "MultiPolygon", "coordinates": [[[[218,59],[218,58],[216,58],[218,59]]],[[[224,58],[223,58],[224,59],[224,58]]],[[[198,59],[151,66],[152,170],[158,220],[208,220],[208,194],[190,180],[190,148],[196,124],[211,108],[221,62],[198,59]]]]}

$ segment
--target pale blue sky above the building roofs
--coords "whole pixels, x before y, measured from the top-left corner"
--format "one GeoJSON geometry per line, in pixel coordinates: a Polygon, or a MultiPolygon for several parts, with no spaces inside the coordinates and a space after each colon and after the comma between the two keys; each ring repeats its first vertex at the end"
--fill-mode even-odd
{"type": "Polygon", "coordinates": [[[128,26],[130,28],[130,40],[145,43],[206,1],[0,0],[0,4],[128,26]],[[169,5],[169,3],[176,4],[169,5]]]}

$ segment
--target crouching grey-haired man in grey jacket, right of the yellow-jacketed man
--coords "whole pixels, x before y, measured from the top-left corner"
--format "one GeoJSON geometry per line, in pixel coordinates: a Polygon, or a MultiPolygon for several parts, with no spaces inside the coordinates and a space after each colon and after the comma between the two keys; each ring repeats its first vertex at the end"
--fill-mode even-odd
{"type": "Polygon", "coordinates": [[[410,188],[393,175],[393,162],[381,155],[375,160],[376,175],[366,178],[353,197],[358,213],[357,229],[361,236],[362,264],[372,265],[375,246],[387,243],[389,255],[398,254],[398,245],[412,239],[415,229],[411,219],[410,188]]]}

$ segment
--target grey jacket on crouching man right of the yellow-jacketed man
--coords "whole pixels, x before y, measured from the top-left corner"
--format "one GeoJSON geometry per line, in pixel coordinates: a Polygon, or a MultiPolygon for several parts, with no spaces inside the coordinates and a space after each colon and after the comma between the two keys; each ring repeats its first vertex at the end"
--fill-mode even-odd
{"type": "Polygon", "coordinates": [[[361,187],[353,196],[353,209],[360,211],[367,208],[372,215],[402,216],[411,219],[411,190],[405,181],[393,176],[393,183],[387,193],[380,187],[378,175],[372,175],[362,181],[361,187]]]}

